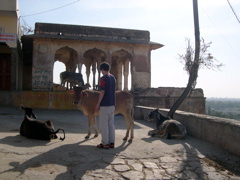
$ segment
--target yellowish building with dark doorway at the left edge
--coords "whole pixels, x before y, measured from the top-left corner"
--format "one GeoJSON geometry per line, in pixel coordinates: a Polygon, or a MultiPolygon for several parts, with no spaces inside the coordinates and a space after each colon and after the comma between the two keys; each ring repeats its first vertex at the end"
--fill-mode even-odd
{"type": "Polygon", "coordinates": [[[22,89],[21,31],[16,0],[0,0],[0,90],[22,89]]]}

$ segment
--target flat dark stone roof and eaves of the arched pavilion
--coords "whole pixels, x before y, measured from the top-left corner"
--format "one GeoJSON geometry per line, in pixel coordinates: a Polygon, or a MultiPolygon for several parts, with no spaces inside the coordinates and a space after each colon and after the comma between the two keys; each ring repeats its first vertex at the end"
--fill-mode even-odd
{"type": "Polygon", "coordinates": [[[149,31],[82,25],[36,23],[34,34],[25,35],[25,37],[146,44],[150,45],[152,49],[163,46],[150,41],[149,31]]]}

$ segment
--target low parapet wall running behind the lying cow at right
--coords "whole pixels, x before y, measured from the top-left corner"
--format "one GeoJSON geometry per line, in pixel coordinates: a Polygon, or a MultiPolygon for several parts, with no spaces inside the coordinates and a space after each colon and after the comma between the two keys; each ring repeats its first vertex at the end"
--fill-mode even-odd
{"type": "MultiPolygon", "coordinates": [[[[145,119],[155,108],[135,107],[135,118],[145,119]]],[[[169,109],[159,109],[166,115],[169,109]]],[[[202,114],[176,111],[174,119],[181,122],[189,135],[211,142],[222,149],[240,156],[240,121],[202,114]]]]}

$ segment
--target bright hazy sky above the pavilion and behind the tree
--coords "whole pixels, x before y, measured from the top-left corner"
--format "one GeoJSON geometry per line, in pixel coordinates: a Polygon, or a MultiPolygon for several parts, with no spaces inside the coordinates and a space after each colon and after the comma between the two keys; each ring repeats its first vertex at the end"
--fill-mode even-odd
{"type": "MultiPolygon", "coordinates": [[[[229,2],[240,18],[240,1],[229,2]]],[[[152,87],[187,85],[178,54],[185,53],[186,38],[194,47],[192,0],[18,0],[18,4],[21,24],[32,29],[35,22],[44,22],[148,30],[151,41],[164,45],[151,53],[152,87]]],[[[198,10],[200,36],[212,42],[209,51],[225,66],[221,71],[200,69],[196,88],[202,88],[205,97],[240,98],[240,23],[227,0],[199,0],[198,10]]]]}

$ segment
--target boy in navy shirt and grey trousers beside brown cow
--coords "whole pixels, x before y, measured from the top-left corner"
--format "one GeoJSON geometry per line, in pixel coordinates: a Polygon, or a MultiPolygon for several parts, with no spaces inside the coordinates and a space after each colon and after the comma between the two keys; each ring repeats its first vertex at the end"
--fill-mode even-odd
{"type": "Polygon", "coordinates": [[[96,111],[99,110],[99,126],[101,129],[102,142],[97,145],[98,148],[114,148],[115,143],[115,77],[109,73],[110,66],[104,62],[100,65],[100,71],[103,76],[100,79],[100,95],[96,105],[96,111]]]}

